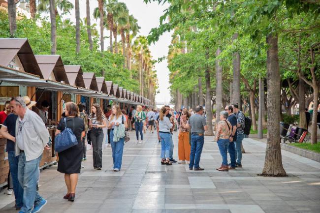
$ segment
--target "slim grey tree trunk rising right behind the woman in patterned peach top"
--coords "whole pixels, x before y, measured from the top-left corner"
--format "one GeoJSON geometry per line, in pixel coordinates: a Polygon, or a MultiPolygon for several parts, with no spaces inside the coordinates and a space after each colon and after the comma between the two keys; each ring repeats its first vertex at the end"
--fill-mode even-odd
{"type": "MultiPolygon", "coordinates": [[[[216,57],[221,54],[221,49],[218,47],[216,57]]],[[[220,112],[222,110],[222,66],[221,60],[216,61],[216,126],[220,121],[220,112]]]]}

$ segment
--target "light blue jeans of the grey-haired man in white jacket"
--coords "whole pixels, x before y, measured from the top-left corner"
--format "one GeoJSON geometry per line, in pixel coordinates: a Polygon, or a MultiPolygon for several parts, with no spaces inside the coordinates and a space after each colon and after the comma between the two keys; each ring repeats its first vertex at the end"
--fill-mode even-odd
{"type": "Polygon", "coordinates": [[[38,205],[42,197],[36,191],[36,183],[39,179],[39,163],[41,157],[27,161],[24,152],[19,155],[18,180],[23,187],[23,206],[21,212],[30,213],[34,205],[38,205]]]}

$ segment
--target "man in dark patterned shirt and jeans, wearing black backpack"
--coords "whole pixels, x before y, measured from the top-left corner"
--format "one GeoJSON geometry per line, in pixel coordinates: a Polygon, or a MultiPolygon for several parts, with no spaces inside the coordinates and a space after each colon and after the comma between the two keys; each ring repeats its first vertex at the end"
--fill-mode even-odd
{"type": "Polygon", "coordinates": [[[242,141],[245,138],[245,115],[241,110],[239,110],[238,104],[232,104],[233,113],[237,119],[237,139],[235,142],[235,150],[237,155],[237,162],[236,167],[242,167],[241,160],[242,160],[242,141]]]}

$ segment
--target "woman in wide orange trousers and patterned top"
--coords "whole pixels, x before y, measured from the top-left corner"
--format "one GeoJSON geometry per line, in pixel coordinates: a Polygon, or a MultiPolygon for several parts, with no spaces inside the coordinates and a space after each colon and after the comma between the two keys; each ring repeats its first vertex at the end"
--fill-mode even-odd
{"type": "Polygon", "coordinates": [[[189,128],[187,122],[190,118],[190,114],[187,109],[182,111],[180,117],[180,127],[178,136],[178,163],[187,163],[190,161],[191,146],[189,144],[189,128]]]}

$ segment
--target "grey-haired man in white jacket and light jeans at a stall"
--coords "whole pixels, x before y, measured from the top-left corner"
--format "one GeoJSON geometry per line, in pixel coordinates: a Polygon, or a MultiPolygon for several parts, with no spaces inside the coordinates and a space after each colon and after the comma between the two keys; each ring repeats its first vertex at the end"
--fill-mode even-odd
{"type": "Polygon", "coordinates": [[[43,149],[50,149],[49,132],[41,118],[29,108],[35,105],[29,97],[11,100],[12,112],[18,116],[16,122],[15,155],[19,155],[18,180],[24,189],[23,206],[20,213],[37,213],[47,203],[36,191],[39,179],[39,162],[43,149]]]}

